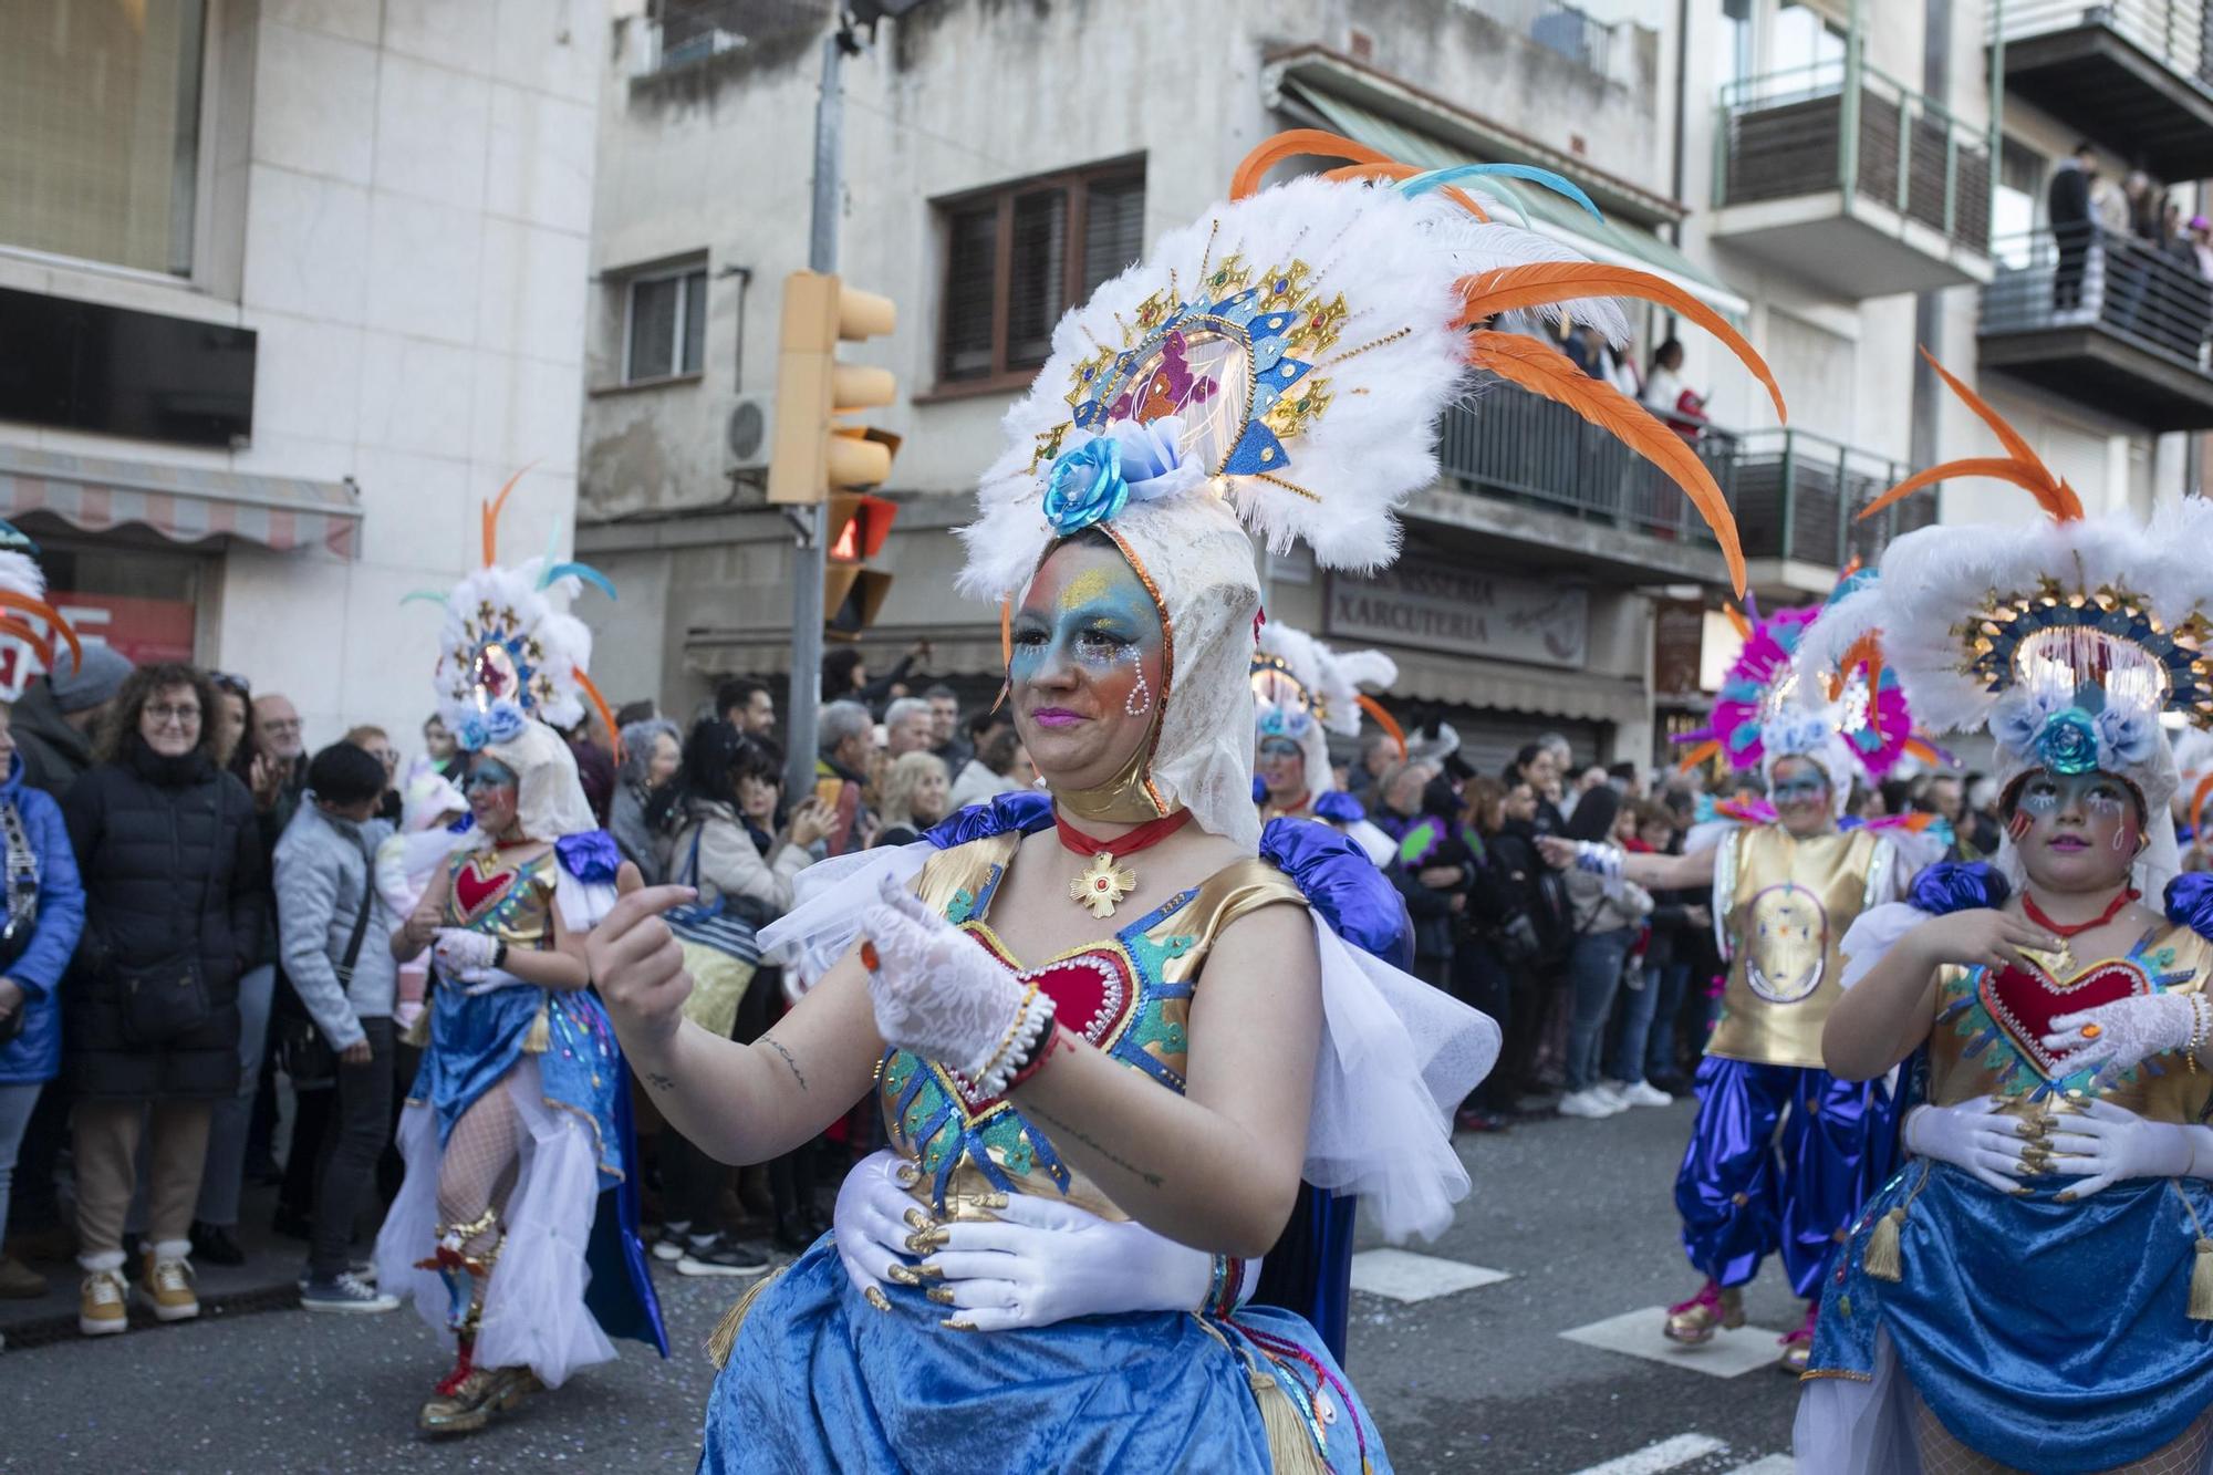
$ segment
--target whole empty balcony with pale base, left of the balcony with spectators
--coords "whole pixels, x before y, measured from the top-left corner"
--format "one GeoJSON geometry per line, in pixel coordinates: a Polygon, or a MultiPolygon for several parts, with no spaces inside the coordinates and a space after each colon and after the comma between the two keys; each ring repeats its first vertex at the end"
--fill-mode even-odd
{"type": "Polygon", "coordinates": [[[1859,62],[1722,89],[1713,237],[1846,297],[1989,279],[1989,137],[1859,62]]]}

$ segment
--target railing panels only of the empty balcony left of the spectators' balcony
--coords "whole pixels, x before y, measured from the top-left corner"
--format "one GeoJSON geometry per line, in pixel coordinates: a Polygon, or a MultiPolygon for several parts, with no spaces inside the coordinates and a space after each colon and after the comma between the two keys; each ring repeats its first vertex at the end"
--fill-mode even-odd
{"type": "Polygon", "coordinates": [[[1846,190],[1974,252],[1989,248],[1989,140],[1852,60],[1722,89],[1715,206],[1846,190]]]}

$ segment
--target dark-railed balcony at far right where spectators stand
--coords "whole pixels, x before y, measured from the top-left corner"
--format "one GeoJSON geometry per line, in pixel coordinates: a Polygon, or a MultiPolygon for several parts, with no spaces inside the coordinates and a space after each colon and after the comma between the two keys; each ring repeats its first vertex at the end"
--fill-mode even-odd
{"type": "Polygon", "coordinates": [[[2213,430],[2213,281],[2195,259],[2096,226],[1996,244],[1978,359],[2147,430],[2213,430]]]}

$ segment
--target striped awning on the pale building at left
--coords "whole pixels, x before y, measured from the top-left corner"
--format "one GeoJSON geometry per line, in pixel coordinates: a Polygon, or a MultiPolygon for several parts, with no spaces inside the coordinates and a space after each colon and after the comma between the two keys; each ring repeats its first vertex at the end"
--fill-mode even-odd
{"type": "Polygon", "coordinates": [[[84,532],[135,523],[177,543],[241,538],[277,551],[361,558],[361,494],[343,481],[0,445],[0,518],[29,512],[84,532]]]}

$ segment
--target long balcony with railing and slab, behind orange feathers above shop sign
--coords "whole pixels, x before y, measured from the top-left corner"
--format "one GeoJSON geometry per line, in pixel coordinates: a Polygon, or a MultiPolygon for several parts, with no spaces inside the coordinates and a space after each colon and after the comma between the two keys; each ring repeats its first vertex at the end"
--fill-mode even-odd
{"type": "MultiPolygon", "coordinates": [[[[1919,492],[1861,523],[1859,509],[1903,481],[1908,467],[1804,430],[1708,427],[1697,454],[1737,516],[1753,589],[1768,598],[1828,594],[1839,567],[1852,558],[1872,565],[1892,538],[1936,520],[1936,494],[1919,492]]],[[[1682,489],[1565,405],[1487,383],[1445,416],[1438,463],[1447,492],[1551,514],[1518,525],[1454,518],[1492,538],[1551,556],[1580,543],[1591,563],[1631,582],[1724,582],[1713,534],[1682,489]],[[1600,554],[1562,529],[1611,536],[1600,554]]],[[[1414,516],[1425,516],[1421,503],[1414,516]]]]}

